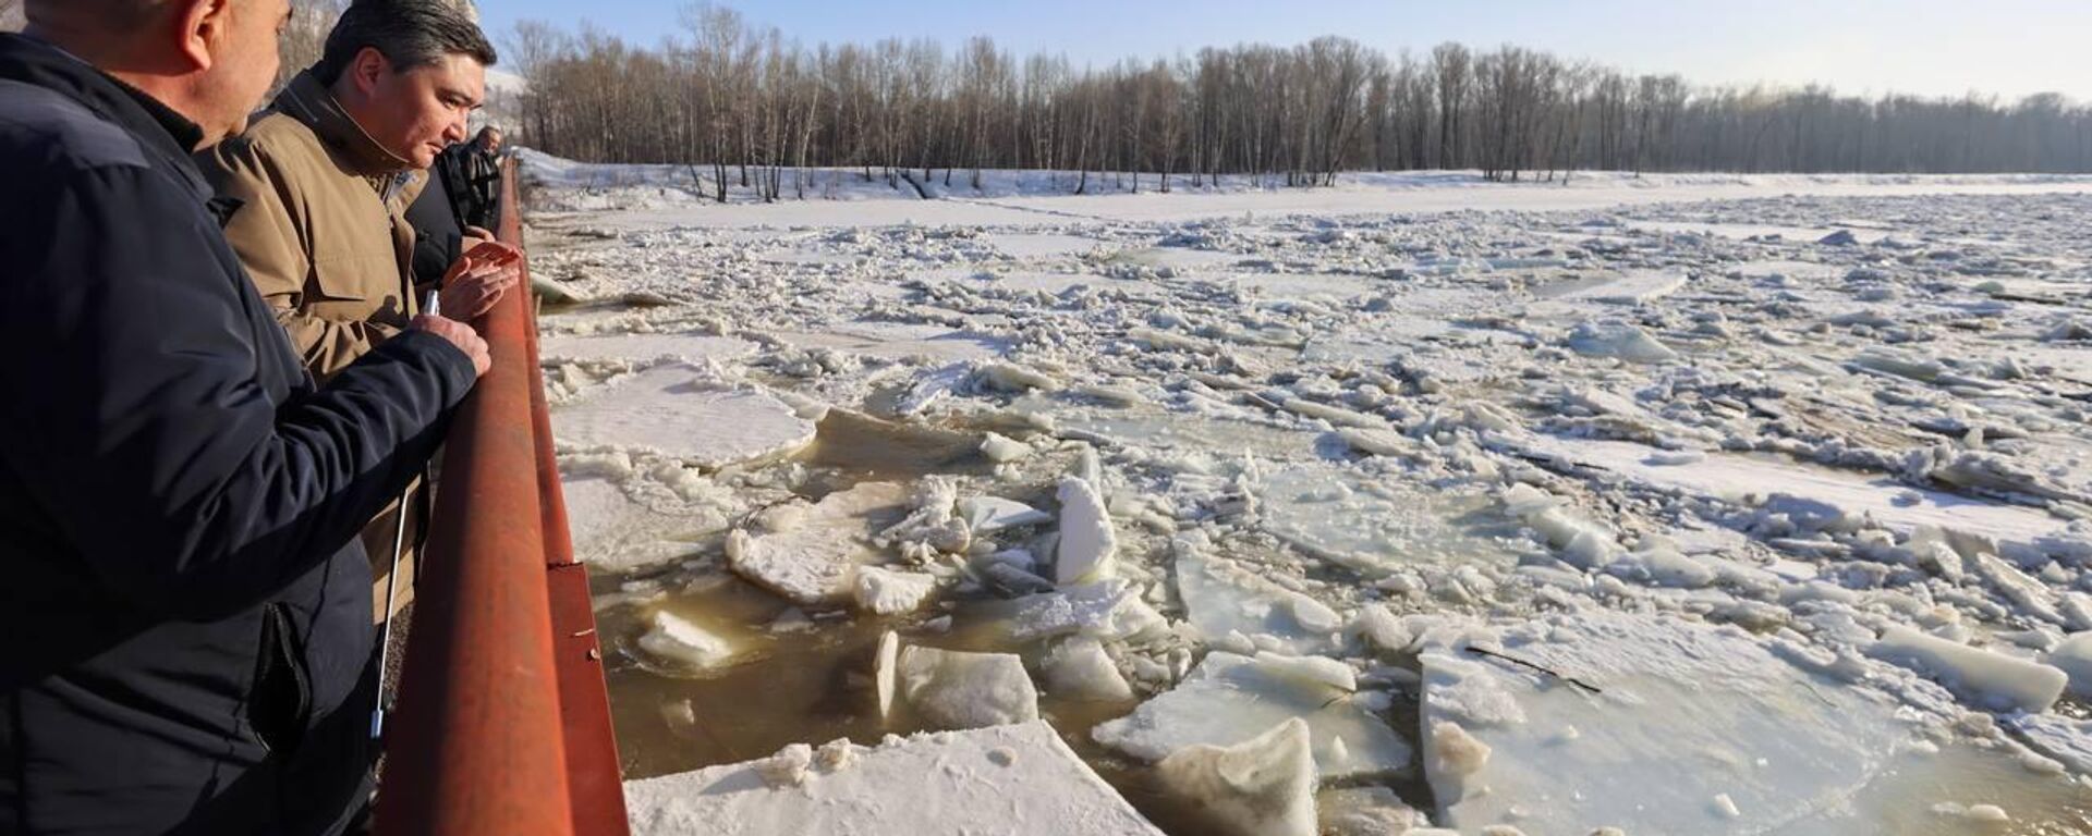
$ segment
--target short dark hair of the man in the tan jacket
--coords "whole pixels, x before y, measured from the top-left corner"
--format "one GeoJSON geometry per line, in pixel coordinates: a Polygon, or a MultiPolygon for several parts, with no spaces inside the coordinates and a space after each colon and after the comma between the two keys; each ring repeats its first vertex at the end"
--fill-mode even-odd
{"type": "Polygon", "coordinates": [[[448,54],[467,54],[494,67],[494,44],[452,0],[356,0],[326,36],[326,52],[312,73],[335,84],[364,46],[377,48],[395,71],[429,67],[448,54]]]}

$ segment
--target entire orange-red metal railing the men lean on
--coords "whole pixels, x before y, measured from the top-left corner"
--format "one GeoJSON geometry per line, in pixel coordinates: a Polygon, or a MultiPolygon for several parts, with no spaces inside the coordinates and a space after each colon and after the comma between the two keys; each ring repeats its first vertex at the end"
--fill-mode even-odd
{"type": "MultiPolygon", "coordinates": [[[[523,247],[515,165],[500,238],[523,247]]],[[[452,424],[377,832],[621,836],[617,740],[588,571],[573,560],[529,268],[475,322],[494,353],[452,424]]]]}

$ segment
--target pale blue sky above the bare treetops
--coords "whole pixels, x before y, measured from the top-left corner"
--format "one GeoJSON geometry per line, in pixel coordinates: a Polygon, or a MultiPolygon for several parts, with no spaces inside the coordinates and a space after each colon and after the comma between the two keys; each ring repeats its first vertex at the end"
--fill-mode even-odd
{"type": "MultiPolygon", "coordinates": [[[[500,38],[517,19],[579,21],[655,44],[680,33],[682,0],[479,0],[500,38]]],[[[1324,33],[1395,54],[1448,40],[1519,44],[1628,71],[1701,84],[1822,82],[2006,98],[2061,92],[2092,100],[2092,0],[891,0],[726,2],[787,38],[874,42],[937,38],[956,48],[992,36],[1004,48],[1075,63],[1167,56],[1238,42],[1299,44],[1324,33]]]]}

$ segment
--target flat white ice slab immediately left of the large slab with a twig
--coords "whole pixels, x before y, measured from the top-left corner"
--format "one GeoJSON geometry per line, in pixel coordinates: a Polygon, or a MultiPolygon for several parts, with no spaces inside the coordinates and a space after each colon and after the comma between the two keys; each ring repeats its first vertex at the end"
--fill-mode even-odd
{"type": "Polygon", "coordinates": [[[1410,746],[1370,709],[1372,694],[1345,694],[1301,679],[1284,665],[1209,652],[1184,681],[1132,715],[1090,732],[1096,742],[1159,761],[1184,746],[1232,746],[1287,719],[1308,721],[1324,780],[1402,773],[1410,746]]]}

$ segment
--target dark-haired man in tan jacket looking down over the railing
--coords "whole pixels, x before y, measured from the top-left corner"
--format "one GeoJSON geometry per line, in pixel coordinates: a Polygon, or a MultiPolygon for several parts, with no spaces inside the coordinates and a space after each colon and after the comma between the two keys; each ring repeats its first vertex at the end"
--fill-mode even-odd
{"type": "MultiPolygon", "coordinates": [[[[485,98],[485,36],[446,0],[356,0],[249,130],[199,163],[220,196],[243,203],[226,238],[320,380],[397,334],[431,286],[414,284],[414,228],[402,217],[444,146],[464,140],[485,98]]],[[[517,282],[517,253],[492,240],[441,282],[444,316],[475,320],[517,282]]],[[[425,531],[427,491],[408,502],[408,543],[425,531]]],[[[379,617],[391,585],[397,510],[364,531],[379,617]]],[[[412,562],[402,562],[404,606],[412,562]]]]}

